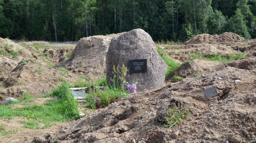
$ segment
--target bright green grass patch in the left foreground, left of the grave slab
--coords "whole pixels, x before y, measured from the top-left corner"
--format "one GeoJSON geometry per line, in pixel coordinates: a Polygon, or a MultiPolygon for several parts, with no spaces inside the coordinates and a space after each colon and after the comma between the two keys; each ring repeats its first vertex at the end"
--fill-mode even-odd
{"type": "MultiPolygon", "coordinates": [[[[18,109],[12,109],[12,105],[0,105],[0,119],[11,119],[16,116],[26,118],[28,121],[23,122],[24,127],[29,129],[45,129],[54,125],[54,122],[78,119],[78,103],[74,100],[69,87],[67,81],[64,81],[49,95],[56,100],[48,101],[45,105],[26,105],[18,109]]],[[[33,100],[28,93],[23,96],[20,102],[26,103],[33,100]]]]}

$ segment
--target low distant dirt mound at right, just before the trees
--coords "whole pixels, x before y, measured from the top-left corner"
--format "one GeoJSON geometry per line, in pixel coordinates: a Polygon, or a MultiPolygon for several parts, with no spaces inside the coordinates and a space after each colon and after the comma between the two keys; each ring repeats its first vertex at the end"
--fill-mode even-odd
{"type": "Polygon", "coordinates": [[[235,33],[225,32],[220,35],[199,34],[187,40],[185,44],[219,43],[219,42],[241,42],[244,38],[235,33]]]}

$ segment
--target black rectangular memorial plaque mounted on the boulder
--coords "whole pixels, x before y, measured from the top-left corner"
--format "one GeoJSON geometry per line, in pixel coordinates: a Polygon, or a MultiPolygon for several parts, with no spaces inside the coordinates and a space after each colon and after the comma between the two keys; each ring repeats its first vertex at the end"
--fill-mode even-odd
{"type": "Polygon", "coordinates": [[[129,64],[130,74],[147,72],[147,59],[132,59],[129,64]]]}

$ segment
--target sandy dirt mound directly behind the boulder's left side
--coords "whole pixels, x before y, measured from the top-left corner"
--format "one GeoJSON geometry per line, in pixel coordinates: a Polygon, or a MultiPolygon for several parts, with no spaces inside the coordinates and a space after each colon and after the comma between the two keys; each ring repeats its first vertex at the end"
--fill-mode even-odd
{"type": "Polygon", "coordinates": [[[106,75],[106,54],[111,41],[108,36],[90,36],[79,40],[70,57],[59,63],[73,72],[86,74],[89,78],[106,75]]]}

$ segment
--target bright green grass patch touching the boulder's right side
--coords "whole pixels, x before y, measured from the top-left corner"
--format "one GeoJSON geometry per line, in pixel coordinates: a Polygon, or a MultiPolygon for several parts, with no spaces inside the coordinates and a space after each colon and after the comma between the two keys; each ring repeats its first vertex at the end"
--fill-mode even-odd
{"type": "Polygon", "coordinates": [[[167,79],[167,78],[169,78],[173,75],[173,73],[176,71],[176,69],[178,69],[180,64],[171,60],[170,58],[168,58],[165,55],[165,52],[163,51],[163,49],[161,49],[157,46],[156,46],[156,49],[157,49],[158,53],[160,54],[160,56],[162,57],[162,59],[165,61],[166,65],[167,65],[167,71],[165,73],[165,79],[167,79]]]}

